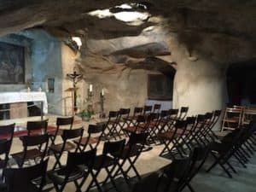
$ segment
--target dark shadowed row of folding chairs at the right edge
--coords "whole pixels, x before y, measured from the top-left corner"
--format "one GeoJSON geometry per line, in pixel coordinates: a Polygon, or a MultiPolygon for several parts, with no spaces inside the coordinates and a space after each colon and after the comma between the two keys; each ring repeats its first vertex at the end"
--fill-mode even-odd
{"type": "Polygon", "coordinates": [[[247,168],[247,163],[256,151],[255,131],[256,116],[254,115],[248,125],[241,125],[213,143],[211,154],[214,162],[207,172],[215,166],[220,166],[229,177],[233,177],[232,173],[237,173],[237,165],[247,168]]]}

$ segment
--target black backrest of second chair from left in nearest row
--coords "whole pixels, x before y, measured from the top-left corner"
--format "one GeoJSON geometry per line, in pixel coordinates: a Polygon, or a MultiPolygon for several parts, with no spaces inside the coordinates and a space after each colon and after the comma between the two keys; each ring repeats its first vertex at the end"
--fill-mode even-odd
{"type": "Polygon", "coordinates": [[[95,157],[96,148],[80,153],[69,151],[67,154],[67,165],[65,167],[67,177],[77,166],[85,165],[87,168],[91,168],[93,166],[95,157]]]}

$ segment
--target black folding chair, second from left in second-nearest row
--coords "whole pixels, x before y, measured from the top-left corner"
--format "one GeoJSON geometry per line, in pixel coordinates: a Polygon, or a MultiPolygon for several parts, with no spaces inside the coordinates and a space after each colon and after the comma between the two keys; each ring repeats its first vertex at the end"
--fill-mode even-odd
{"type": "Polygon", "coordinates": [[[30,135],[21,138],[23,151],[11,154],[19,167],[22,167],[25,162],[30,163],[33,160],[36,164],[44,160],[47,154],[49,136],[44,135],[30,135]]]}

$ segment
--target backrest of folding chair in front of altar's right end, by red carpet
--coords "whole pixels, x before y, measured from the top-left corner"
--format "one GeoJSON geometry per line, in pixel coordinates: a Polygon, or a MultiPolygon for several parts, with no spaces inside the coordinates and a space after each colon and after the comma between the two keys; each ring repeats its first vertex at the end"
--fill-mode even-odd
{"type": "Polygon", "coordinates": [[[48,119],[37,120],[37,121],[27,121],[26,130],[28,135],[41,134],[47,131],[48,119]]]}

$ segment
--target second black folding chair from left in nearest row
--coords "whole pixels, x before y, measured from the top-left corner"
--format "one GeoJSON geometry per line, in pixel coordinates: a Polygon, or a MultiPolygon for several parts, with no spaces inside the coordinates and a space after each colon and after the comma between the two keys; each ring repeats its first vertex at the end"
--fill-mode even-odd
{"type": "Polygon", "coordinates": [[[82,191],[85,180],[92,172],[92,166],[96,157],[96,148],[81,152],[67,154],[67,164],[60,170],[48,172],[48,177],[52,180],[57,192],[65,189],[67,183],[73,182],[76,191],[82,191]],[[78,180],[81,179],[79,182],[78,180]]]}

